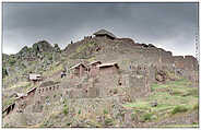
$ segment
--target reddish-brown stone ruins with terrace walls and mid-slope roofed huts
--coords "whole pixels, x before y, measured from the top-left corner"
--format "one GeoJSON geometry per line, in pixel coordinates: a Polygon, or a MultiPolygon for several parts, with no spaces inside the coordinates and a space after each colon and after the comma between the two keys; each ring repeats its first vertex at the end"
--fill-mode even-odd
{"type": "MultiPolygon", "coordinates": [[[[92,37],[85,37],[85,39],[92,39],[92,37]]],[[[70,69],[67,83],[55,83],[54,81],[42,83],[40,86],[32,90],[32,93],[28,92],[26,96],[17,98],[15,104],[9,106],[3,113],[10,114],[13,109],[17,113],[43,113],[45,105],[64,99],[74,106],[78,106],[80,101],[87,101],[82,102],[87,104],[93,99],[109,101],[111,98],[117,103],[133,102],[138,97],[149,95],[152,83],[174,80],[167,72],[184,76],[198,86],[199,69],[194,57],[173,56],[170,51],[164,51],[152,45],[135,44],[128,38],[113,40],[127,40],[134,48],[143,49],[146,62],[141,63],[140,60],[143,59],[140,59],[138,63],[130,63],[129,69],[122,69],[118,62],[93,61],[88,64],[80,62],[70,69]],[[25,110],[28,105],[32,106],[31,110],[25,110]]]]}

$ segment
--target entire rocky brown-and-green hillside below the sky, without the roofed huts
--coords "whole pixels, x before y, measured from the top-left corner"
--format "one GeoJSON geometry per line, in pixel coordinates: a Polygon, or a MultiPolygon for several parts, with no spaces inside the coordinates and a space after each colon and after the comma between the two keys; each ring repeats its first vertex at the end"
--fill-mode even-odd
{"type": "Polygon", "coordinates": [[[4,127],[198,127],[198,62],[192,56],[100,35],[63,50],[40,40],[2,57],[3,109],[37,88],[24,113],[3,115],[4,127]],[[92,61],[116,62],[119,71],[71,75],[71,67],[92,61]],[[63,70],[67,76],[61,79],[63,70]],[[43,81],[29,82],[31,72],[42,74],[43,81]],[[55,93],[48,91],[57,85],[55,93]],[[42,90],[48,93],[42,96],[42,90]]]}

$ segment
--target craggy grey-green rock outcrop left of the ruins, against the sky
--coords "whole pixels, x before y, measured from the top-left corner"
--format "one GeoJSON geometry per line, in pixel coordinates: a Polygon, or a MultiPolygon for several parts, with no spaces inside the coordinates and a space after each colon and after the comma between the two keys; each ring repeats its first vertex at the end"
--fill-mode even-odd
{"type": "Polygon", "coordinates": [[[32,47],[25,46],[15,55],[3,54],[3,79],[7,79],[3,87],[25,81],[29,72],[45,72],[52,62],[60,60],[60,57],[59,46],[52,46],[46,40],[35,43],[32,47]]]}

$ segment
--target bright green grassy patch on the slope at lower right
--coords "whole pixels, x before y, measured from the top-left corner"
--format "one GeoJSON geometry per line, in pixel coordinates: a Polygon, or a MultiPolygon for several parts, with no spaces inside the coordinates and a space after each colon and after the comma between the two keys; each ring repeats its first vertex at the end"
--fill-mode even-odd
{"type": "Polygon", "coordinates": [[[140,117],[141,121],[157,121],[178,113],[196,110],[198,109],[199,90],[189,87],[190,84],[185,79],[166,84],[153,84],[149,97],[123,106],[133,108],[133,115],[140,117]],[[153,102],[157,102],[157,106],[152,107],[151,103],[153,102]]]}

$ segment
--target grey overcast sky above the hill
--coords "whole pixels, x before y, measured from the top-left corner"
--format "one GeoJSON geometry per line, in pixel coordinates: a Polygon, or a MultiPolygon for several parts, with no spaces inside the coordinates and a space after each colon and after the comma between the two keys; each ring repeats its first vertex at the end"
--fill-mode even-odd
{"type": "Polygon", "coordinates": [[[98,29],[175,56],[196,56],[198,3],[3,3],[2,51],[16,54],[39,40],[62,49],[98,29]]]}

